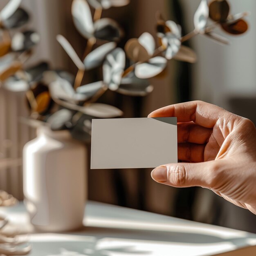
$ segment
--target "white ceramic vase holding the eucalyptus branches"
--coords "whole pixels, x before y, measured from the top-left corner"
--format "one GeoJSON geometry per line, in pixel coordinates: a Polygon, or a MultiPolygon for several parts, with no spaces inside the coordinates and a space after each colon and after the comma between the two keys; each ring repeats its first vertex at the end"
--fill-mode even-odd
{"type": "Polygon", "coordinates": [[[24,202],[36,229],[58,232],[83,225],[86,156],[85,146],[67,130],[40,127],[24,146],[24,202]]]}

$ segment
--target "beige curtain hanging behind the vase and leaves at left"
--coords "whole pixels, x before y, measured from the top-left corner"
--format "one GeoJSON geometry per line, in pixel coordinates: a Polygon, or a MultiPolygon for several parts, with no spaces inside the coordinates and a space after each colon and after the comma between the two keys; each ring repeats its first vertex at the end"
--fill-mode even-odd
{"type": "MultiPolygon", "coordinates": [[[[0,1],[0,9],[8,0],[0,1]]],[[[63,31],[65,11],[60,0],[23,0],[21,6],[31,14],[29,24],[18,30],[35,29],[41,36],[39,45],[26,66],[41,60],[50,61],[54,67],[67,67],[66,56],[55,40],[63,31]],[[63,65],[64,64],[64,65],[63,65]]],[[[15,33],[16,30],[11,31],[15,33]]],[[[24,144],[35,136],[35,130],[21,124],[19,117],[27,116],[25,95],[7,92],[0,88],[0,160],[22,157],[24,144]]],[[[22,167],[1,168],[0,189],[22,199],[22,167]]]]}

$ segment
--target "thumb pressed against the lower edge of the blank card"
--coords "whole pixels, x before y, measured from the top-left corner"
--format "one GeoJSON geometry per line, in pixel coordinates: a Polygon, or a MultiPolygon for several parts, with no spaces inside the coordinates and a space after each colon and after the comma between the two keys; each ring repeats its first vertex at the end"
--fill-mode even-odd
{"type": "Polygon", "coordinates": [[[213,188],[223,169],[219,160],[201,163],[164,164],[151,172],[156,182],[174,187],[202,186],[213,188]]]}

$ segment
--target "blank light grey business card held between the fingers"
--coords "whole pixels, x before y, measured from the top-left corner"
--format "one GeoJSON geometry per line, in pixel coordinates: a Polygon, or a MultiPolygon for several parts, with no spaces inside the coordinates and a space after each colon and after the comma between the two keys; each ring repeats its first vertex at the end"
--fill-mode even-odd
{"type": "Polygon", "coordinates": [[[92,120],[91,169],[177,163],[177,118],[92,120]]]}

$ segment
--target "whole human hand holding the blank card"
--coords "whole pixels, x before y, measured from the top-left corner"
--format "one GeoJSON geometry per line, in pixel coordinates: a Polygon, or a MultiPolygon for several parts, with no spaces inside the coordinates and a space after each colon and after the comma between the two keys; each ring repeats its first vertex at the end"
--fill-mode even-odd
{"type": "Polygon", "coordinates": [[[203,101],[160,108],[148,117],[177,117],[178,164],[151,177],[175,187],[202,186],[256,214],[256,128],[252,121],[203,101]]]}

